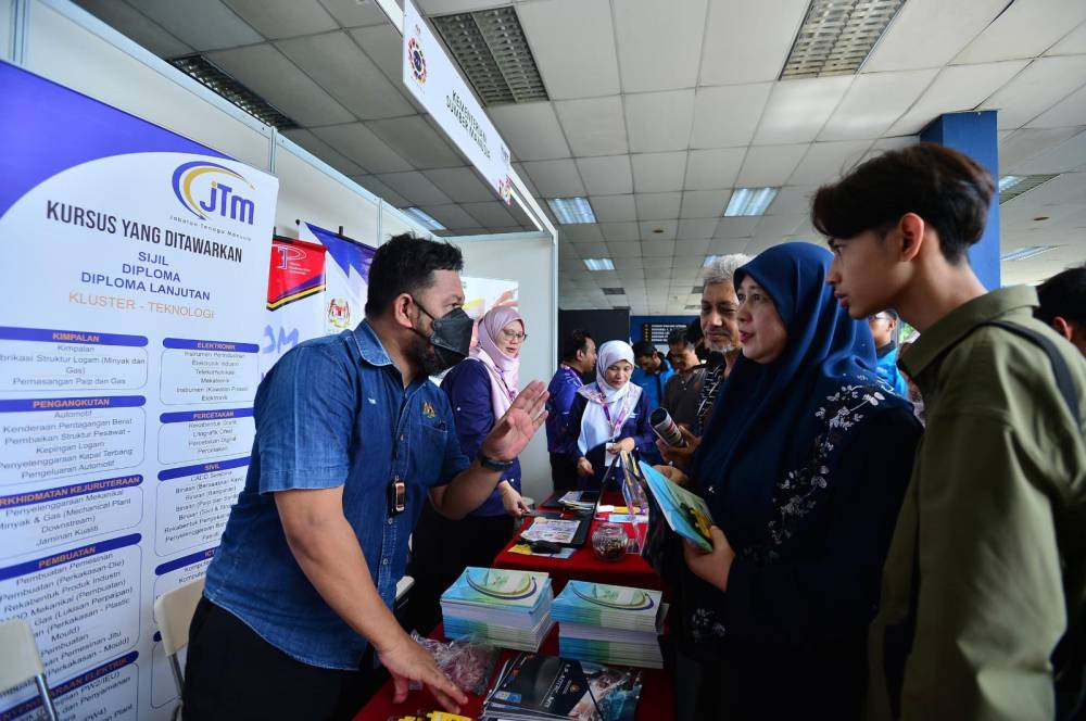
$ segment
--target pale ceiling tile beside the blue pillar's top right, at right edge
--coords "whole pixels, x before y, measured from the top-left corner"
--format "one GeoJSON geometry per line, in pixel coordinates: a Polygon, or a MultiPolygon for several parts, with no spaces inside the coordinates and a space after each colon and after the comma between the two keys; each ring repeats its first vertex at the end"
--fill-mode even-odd
{"type": "Polygon", "coordinates": [[[1086,79],[1086,55],[1039,58],[1014,76],[980,110],[999,110],[1000,128],[1018,128],[1077,90],[1086,79]]]}

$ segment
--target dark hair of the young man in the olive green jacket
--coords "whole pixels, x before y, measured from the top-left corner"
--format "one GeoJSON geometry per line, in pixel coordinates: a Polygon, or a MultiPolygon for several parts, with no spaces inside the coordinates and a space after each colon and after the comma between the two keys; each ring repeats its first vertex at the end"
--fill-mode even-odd
{"type": "Polygon", "coordinates": [[[826,238],[853,238],[864,230],[885,235],[915,213],[938,233],[943,256],[957,264],[984,233],[995,189],[973,160],[922,142],[872,157],[819,188],[811,223],[826,238]]]}

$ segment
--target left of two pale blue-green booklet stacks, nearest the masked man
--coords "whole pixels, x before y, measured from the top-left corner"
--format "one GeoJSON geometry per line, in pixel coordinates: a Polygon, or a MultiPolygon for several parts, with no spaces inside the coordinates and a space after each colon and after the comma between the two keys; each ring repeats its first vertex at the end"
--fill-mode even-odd
{"type": "Polygon", "coordinates": [[[441,615],[450,638],[539,650],[554,625],[551,577],[546,573],[469,566],[441,594],[441,615]]]}

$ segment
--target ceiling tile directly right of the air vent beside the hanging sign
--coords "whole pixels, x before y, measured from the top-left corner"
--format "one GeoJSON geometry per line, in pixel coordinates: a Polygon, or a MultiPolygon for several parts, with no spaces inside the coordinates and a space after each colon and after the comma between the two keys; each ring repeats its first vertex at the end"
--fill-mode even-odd
{"type": "Polygon", "coordinates": [[[526,2],[517,7],[517,15],[553,100],[618,94],[608,0],[526,2]]]}

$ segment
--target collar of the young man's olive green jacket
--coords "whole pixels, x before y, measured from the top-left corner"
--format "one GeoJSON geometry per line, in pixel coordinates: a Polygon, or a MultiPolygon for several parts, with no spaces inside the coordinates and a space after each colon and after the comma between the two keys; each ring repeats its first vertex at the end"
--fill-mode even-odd
{"type": "Polygon", "coordinates": [[[1014,312],[1032,316],[1033,308],[1037,305],[1037,291],[1028,286],[1000,288],[974,298],[939,318],[921,333],[905,357],[898,359],[898,365],[906,374],[917,378],[947,349],[958,343],[977,326],[1014,312]]]}

